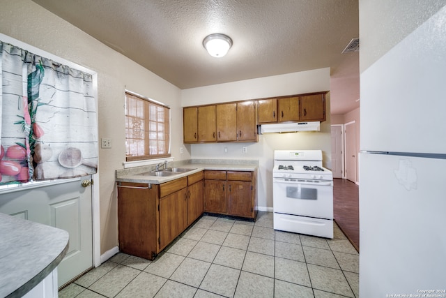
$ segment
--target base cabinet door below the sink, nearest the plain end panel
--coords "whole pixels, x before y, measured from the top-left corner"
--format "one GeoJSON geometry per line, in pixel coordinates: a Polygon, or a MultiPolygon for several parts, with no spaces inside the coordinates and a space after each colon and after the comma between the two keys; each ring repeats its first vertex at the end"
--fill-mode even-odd
{"type": "Polygon", "coordinates": [[[187,227],[186,188],[160,198],[160,250],[187,227]]]}

